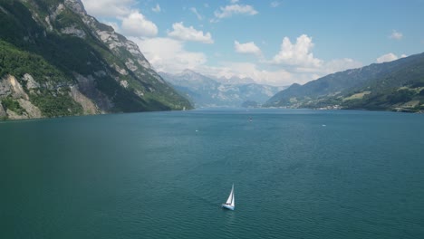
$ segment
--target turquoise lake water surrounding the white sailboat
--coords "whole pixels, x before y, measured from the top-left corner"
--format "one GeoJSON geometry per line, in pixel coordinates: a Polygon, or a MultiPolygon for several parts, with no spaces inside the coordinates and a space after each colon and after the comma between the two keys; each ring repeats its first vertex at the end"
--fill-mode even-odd
{"type": "Polygon", "coordinates": [[[424,238],[424,115],[0,122],[0,238],[424,238]]]}

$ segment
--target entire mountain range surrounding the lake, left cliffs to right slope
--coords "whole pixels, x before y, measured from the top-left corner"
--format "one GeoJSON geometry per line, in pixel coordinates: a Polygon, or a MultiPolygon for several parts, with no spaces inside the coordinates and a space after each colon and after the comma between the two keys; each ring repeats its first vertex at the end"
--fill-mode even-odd
{"type": "Polygon", "coordinates": [[[157,73],[81,0],[0,0],[0,119],[202,107],[424,110],[424,53],[289,88],[157,73]]]}

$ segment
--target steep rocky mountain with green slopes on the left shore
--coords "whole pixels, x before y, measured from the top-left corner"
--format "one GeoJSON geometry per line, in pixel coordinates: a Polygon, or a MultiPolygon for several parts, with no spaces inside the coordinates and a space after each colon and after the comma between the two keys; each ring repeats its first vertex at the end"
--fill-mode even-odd
{"type": "Polygon", "coordinates": [[[0,118],[190,109],[80,0],[0,0],[0,118]]]}

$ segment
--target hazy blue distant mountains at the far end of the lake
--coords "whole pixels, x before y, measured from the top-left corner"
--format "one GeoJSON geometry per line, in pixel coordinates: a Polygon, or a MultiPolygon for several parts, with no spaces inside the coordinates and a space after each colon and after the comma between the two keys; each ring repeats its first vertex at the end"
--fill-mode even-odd
{"type": "Polygon", "coordinates": [[[283,89],[257,83],[223,83],[190,70],[178,74],[159,74],[197,108],[240,107],[245,101],[255,101],[255,104],[245,106],[260,105],[283,89]]]}

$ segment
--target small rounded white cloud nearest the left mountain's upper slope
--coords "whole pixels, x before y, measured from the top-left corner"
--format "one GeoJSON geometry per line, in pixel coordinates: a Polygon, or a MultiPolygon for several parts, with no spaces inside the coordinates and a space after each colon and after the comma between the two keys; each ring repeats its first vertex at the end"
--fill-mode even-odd
{"type": "Polygon", "coordinates": [[[122,19],[121,32],[126,36],[151,37],[158,34],[158,27],[147,20],[143,14],[134,11],[122,19]]]}

